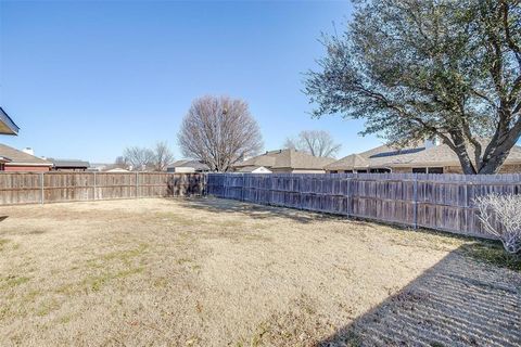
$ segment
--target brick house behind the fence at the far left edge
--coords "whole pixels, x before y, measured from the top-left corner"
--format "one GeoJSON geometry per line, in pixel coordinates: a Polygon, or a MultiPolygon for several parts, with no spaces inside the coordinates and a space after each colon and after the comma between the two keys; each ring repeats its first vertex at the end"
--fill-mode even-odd
{"type": "Polygon", "coordinates": [[[0,144],[1,171],[49,171],[52,163],[0,144]]]}

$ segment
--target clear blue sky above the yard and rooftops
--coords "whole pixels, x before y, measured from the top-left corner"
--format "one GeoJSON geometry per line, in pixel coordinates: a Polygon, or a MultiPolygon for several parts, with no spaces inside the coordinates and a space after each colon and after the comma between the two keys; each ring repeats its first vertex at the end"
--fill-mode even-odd
{"type": "Polygon", "coordinates": [[[15,147],[112,162],[166,140],[204,94],[242,98],[266,150],[301,130],[329,130],[341,155],[380,143],[358,120],[312,119],[302,73],[323,54],[348,1],[0,2],[0,104],[21,127],[15,147]]]}

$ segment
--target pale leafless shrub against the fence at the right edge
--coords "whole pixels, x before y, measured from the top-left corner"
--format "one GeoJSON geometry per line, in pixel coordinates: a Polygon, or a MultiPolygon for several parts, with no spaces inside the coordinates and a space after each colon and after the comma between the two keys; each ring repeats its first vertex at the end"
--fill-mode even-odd
{"type": "Polygon", "coordinates": [[[485,230],[499,237],[505,250],[521,252],[521,195],[488,194],[474,198],[485,230]],[[500,226],[498,226],[499,223],[500,226]]]}

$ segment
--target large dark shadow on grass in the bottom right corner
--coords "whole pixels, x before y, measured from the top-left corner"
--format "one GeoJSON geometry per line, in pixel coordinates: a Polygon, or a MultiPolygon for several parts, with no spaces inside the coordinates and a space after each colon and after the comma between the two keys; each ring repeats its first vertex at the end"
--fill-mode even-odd
{"type": "Polygon", "coordinates": [[[521,272],[468,247],[317,346],[521,346],[521,272]]]}

